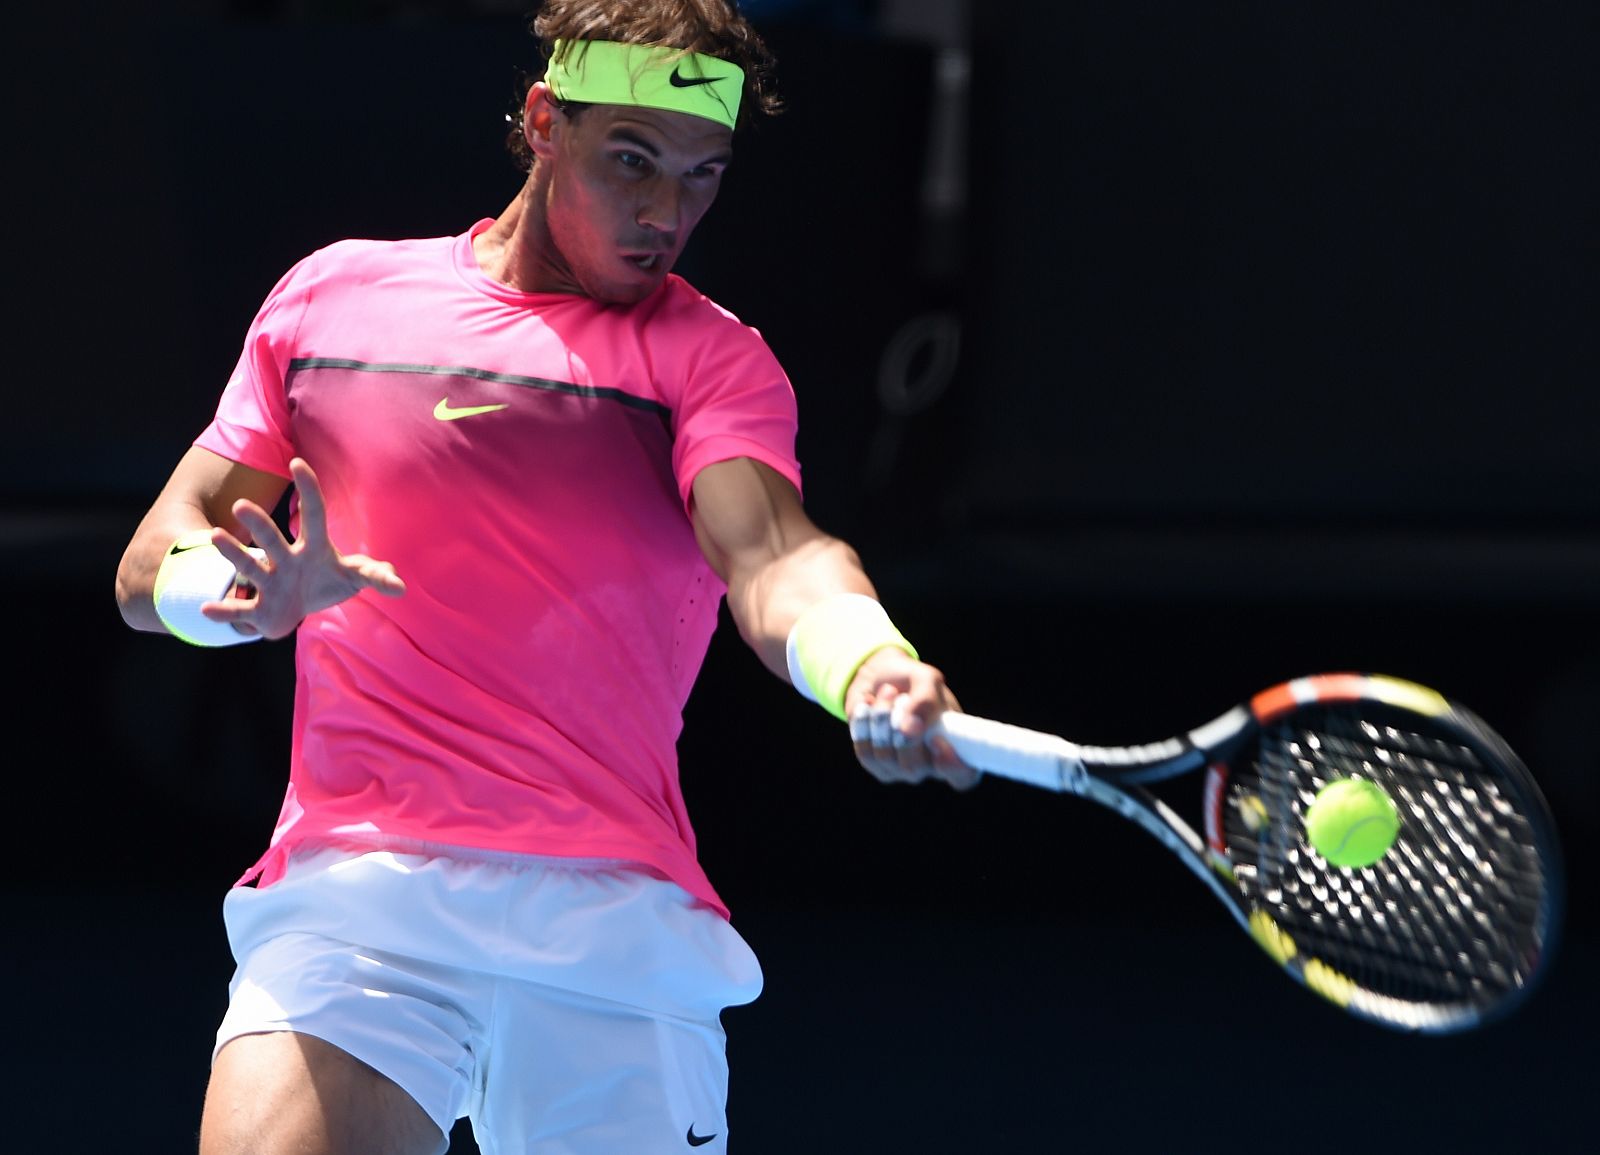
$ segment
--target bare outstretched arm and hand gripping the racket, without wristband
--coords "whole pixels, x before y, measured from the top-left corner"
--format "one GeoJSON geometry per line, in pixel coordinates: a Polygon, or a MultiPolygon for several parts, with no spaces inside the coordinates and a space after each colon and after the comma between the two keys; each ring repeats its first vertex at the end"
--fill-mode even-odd
{"type": "MultiPolygon", "coordinates": [[[[694,478],[691,520],[706,560],[728,584],[728,609],[739,635],[773,673],[789,680],[789,630],[810,606],[835,593],[877,590],[856,550],[822,533],[795,488],[768,466],[736,458],[694,478]]],[[[859,665],[845,709],[893,707],[901,744],[856,742],[856,757],[885,782],[941,777],[968,787],[978,773],[949,744],[922,741],[944,712],[960,709],[944,675],[896,646],[875,649],[859,665]]]]}

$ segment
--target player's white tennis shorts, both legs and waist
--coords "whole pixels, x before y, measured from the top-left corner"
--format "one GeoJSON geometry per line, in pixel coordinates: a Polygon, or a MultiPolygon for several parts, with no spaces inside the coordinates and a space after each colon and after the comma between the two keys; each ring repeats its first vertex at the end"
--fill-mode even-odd
{"type": "Polygon", "coordinates": [[[222,912],[238,968],[216,1049],[315,1035],[445,1134],[470,1117],[483,1155],[726,1150],[720,1013],[754,1000],[762,971],[670,881],[618,862],[323,849],[229,891],[222,912]]]}

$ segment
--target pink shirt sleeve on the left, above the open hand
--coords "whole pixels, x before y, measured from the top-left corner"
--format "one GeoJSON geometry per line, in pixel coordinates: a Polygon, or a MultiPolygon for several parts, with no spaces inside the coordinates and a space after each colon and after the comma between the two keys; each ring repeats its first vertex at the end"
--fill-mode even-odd
{"type": "Polygon", "coordinates": [[[216,414],[195,438],[202,450],[266,474],[290,475],[294,440],[285,381],[314,270],[315,254],[283,274],[262,301],[216,414]]]}

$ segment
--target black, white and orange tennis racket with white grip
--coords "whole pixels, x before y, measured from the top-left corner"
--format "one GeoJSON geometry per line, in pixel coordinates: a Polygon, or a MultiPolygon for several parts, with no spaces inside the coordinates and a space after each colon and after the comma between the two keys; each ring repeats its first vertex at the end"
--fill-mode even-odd
{"type": "Polygon", "coordinates": [[[1272,686],[1150,745],[1078,745],[946,713],[968,765],[1133,819],[1222,901],[1285,971],[1336,1006],[1450,1033],[1520,1005],[1562,917],[1555,824],[1512,749],[1477,715],[1398,678],[1323,673],[1272,686]],[[1205,771],[1202,838],[1146,784],[1205,771]],[[1306,833],[1328,782],[1362,777],[1400,817],[1392,846],[1339,867],[1306,833]]]}

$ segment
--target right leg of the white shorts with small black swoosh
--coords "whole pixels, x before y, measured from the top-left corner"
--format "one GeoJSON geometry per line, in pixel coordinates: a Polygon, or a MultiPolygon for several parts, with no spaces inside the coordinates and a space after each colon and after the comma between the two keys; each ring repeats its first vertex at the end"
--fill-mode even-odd
{"type": "Polygon", "coordinates": [[[502,984],[472,1110],[485,1155],[728,1150],[726,1037],[693,1022],[502,984]]]}

